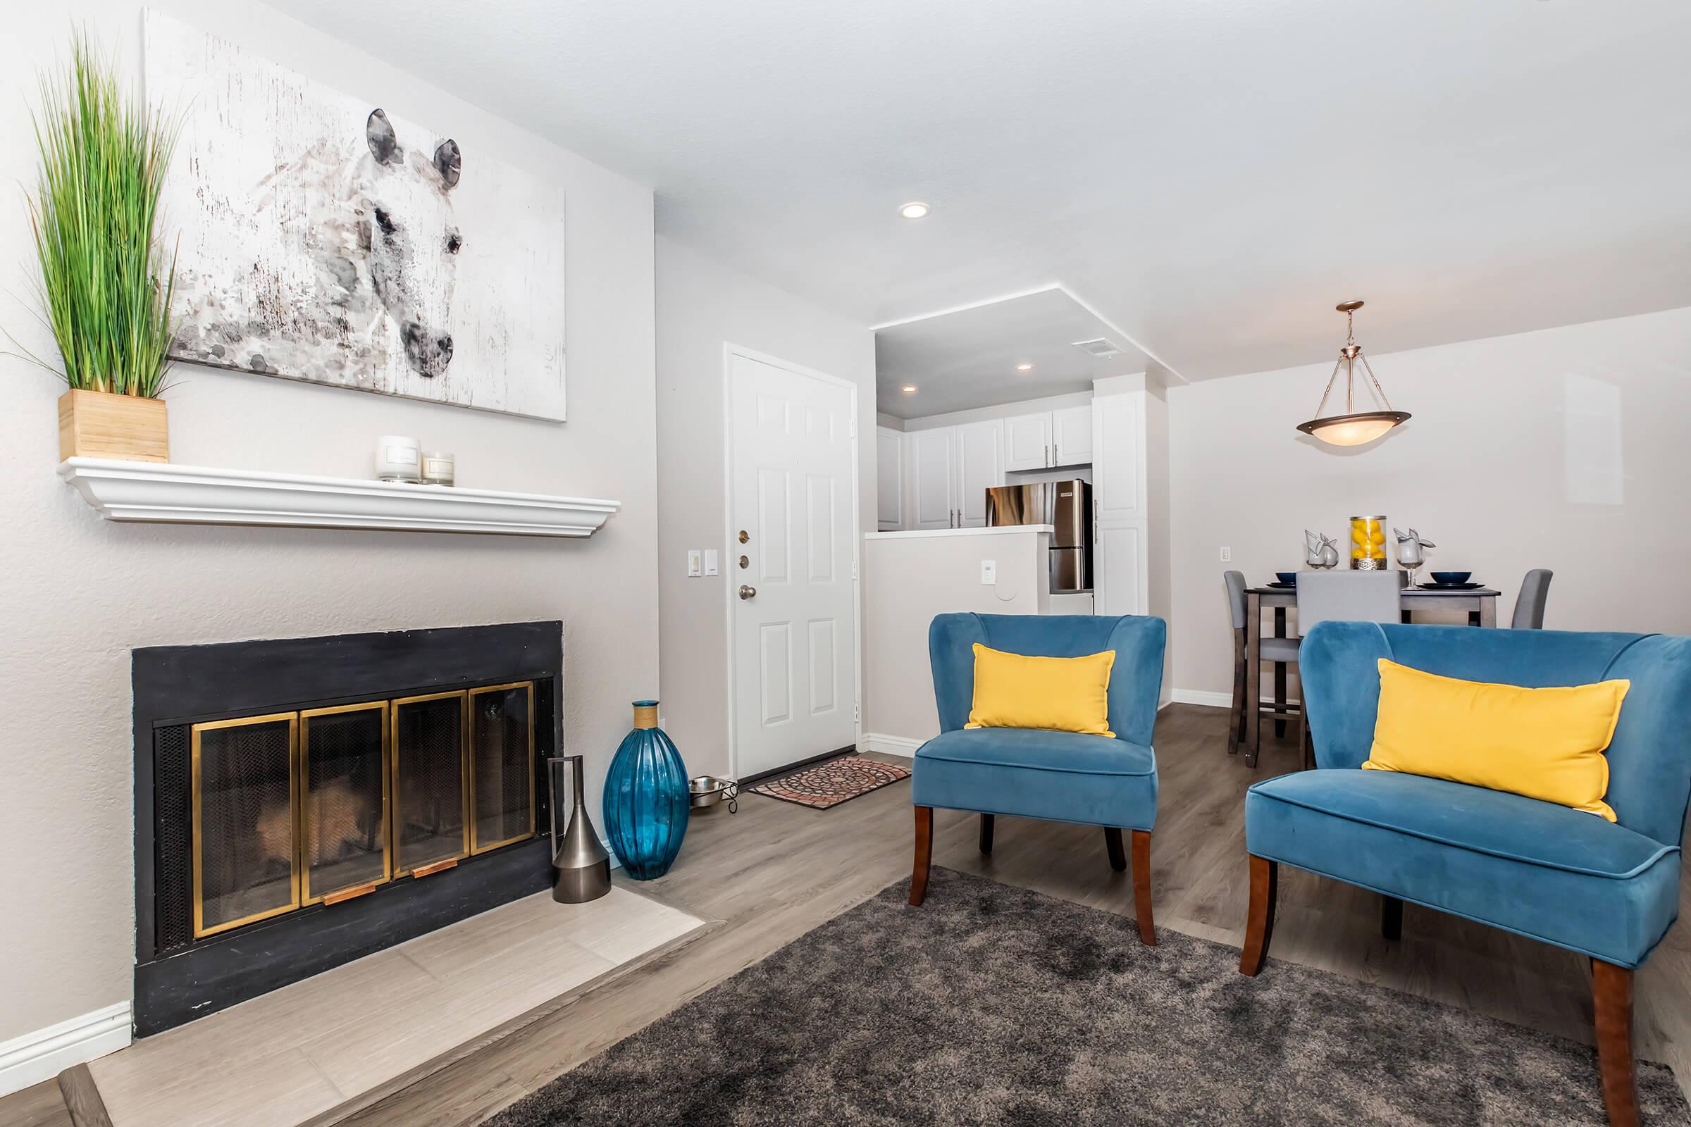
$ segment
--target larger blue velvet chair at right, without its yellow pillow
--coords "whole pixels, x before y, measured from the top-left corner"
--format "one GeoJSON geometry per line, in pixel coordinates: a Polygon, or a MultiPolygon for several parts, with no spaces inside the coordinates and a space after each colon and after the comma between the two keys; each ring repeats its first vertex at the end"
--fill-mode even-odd
{"type": "Polygon", "coordinates": [[[1679,914],[1679,843],[1691,794],[1691,639],[1561,630],[1322,622],[1299,667],[1317,770],[1245,798],[1251,906],[1240,970],[1261,970],[1278,865],[1591,958],[1598,1063],[1610,1122],[1635,1124],[1632,972],[1679,914]],[[1378,657],[1466,681],[1544,688],[1628,678],[1608,749],[1618,823],[1552,803],[1385,770],[1373,743],[1378,657]]]}

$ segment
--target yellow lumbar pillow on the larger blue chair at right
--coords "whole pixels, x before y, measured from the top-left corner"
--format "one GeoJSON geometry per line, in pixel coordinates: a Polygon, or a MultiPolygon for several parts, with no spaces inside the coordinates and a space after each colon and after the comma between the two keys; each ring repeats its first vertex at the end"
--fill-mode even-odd
{"type": "Polygon", "coordinates": [[[1524,689],[1380,661],[1363,770],[1402,770],[1573,806],[1615,821],[1603,752],[1632,681],[1524,689]]]}

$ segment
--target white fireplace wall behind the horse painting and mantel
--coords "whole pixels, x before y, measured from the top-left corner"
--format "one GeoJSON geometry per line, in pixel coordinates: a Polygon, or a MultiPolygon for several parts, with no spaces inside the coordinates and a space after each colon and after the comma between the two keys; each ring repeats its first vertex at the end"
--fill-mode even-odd
{"type": "MultiPolygon", "coordinates": [[[[54,476],[61,385],[0,358],[0,1043],[130,997],[132,647],[561,618],[565,750],[590,803],[629,701],[658,688],[651,193],[269,8],[159,8],[406,118],[450,130],[465,172],[487,155],[568,199],[570,422],[548,424],[259,375],[179,368],[166,399],[184,465],[367,476],[374,436],[458,455],[462,485],[616,497],[585,542],[502,536],[103,522],[54,476]]],[[[86,25],[139,76],[140,7],[12,5],[0,149],[34,179],[22,91],[86,25]]],[[[171,223],[193,216],[172,215],[171,223]]],[[[8,294],[32,292],[22,193],[0,191],[0,324],[51,341],[8,294]]]]}

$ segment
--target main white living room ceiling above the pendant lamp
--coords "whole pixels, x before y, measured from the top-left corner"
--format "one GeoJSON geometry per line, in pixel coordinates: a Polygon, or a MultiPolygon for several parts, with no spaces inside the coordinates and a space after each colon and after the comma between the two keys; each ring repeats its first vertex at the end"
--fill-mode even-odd
{"type": "Polygon", "coordinates": [[[866,324],[1062,282],[1211,378],[1344,297],[1375,353],[1691,306],[1686,0],[272,2],[866,324]]]}

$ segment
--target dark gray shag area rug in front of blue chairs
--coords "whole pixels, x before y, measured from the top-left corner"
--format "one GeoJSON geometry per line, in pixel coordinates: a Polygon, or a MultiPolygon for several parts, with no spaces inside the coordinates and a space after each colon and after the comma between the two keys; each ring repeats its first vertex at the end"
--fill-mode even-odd
{"type": "MultiPolygon", "coordinates": [[[[935,868],[487,1120],[1606,1124],[1596,1051],[935,868]]],[[[1691,1124],[1639,1064],[1645,1124],[1691,1124]]]]}

